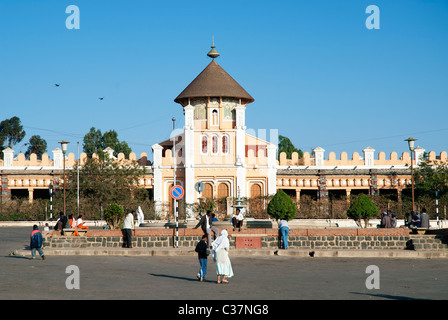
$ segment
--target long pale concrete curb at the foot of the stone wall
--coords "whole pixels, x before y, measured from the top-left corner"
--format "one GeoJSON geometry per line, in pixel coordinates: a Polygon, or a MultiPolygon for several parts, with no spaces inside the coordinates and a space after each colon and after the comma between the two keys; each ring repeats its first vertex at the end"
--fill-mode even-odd
{"type": "MultiPolygon", "coordinates": [[[[89,249],[45,249],[46,256],[196,256],[189,248],[89,248],[89,249]]],[[[31,250],[14,250],[11,255],[30,256],[31,250]]],[[[413,250],[303,250],[303,249],[231,249],[230,256],[283,256],[302,258],[404,258],[404,259],[447,259],[448,250],[413,251],[413,250]]]]}

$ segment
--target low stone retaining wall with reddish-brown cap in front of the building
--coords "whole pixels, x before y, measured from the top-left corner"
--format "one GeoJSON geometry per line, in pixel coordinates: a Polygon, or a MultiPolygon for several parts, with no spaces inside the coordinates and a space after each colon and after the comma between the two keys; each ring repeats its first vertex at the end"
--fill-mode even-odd
{"type": "MultiPolygon", "coordinates": [[[[241,232],[228,230],[230,245],[235,248],[236,238],[261,239],[261,247],[281,247],[277,229],[246,229],[241,232]]],[[[199,229],[179,229],[179,247],[192,248],[201,239],[199,229]]],[[[295,249],[338,249],[338,250],[383,250],[447,249],[447,232],[412,235],[409,229],[292,229],[289,233],[290,248],[295,249]]],[[[169,248],[176,241],[173,229],[137,229],[133,234],[135,248],[169,248]]],[[[238,242],[242,243],[242,242],[238,242]]],[[[44,246],[61,248],[120,248],[123,237],[120,230],[89,230],[86,236],[60,236],[56,232],[44,235],[44,246]]],[[[241,248],[241,247],[240,247],[241,248]]],[[[249,248],[249,247],[248,247],[249,248]]]]}

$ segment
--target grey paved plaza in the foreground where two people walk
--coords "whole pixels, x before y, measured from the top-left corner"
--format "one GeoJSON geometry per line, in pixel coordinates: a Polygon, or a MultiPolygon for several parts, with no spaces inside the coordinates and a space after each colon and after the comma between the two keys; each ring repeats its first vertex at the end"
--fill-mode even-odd
{"type": "Polygon", "coordinates": [[[191,256],[10,256],[29,242],[30,228],[0,228],[0,299],[88,300],[390,300],[447,299],[447,259],[234,256],[235,276],[216,284],[208,261],[205,282],[191,256]],[[379,289],[368,289],[368,266],[379,289]],[[67,279],[79,270],[79,289],[67,279]],[[213,294],[206,294],[210,292],[213,294]]]}

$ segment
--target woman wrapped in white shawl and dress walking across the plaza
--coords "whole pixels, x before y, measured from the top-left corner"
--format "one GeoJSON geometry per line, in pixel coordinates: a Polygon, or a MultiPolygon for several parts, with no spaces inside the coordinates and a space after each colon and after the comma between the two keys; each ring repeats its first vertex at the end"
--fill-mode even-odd
{"type": "Polygon", "coordinates": [[[212,243],[212,257],[216,262],[218,283],[229,283],[227,278],[233,276],[232,264],[230,263],[228,253],[230,242],[227,236],[227,230],[222,230],[220,236],[212,243]]]}

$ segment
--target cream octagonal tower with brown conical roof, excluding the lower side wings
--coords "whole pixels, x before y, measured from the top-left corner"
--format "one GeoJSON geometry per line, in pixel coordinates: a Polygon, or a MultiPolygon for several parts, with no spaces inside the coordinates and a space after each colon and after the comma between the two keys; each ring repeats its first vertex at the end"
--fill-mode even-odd
{"type": "Polygon", "coordinates": [[[227,192],[224,186],[219,192],[218,183],[205,190],[206,197],[236,196],[237,190],[245,194],[245,109],[254,98],[216,62],[219,53],[214,43],[207,56],[212,61],[174,99],[185,111],[187,203],[194,202],[192,188],[201,179],[196,168],[204,165],[231,168],[232,175],[236,174],[236,181],[229,179],[227,192]]]}

